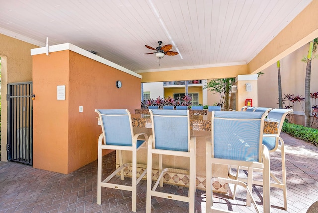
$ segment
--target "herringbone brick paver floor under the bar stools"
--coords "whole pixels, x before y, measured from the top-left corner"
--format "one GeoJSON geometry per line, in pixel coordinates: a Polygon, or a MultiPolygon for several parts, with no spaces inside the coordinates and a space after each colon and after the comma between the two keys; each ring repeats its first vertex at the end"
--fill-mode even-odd
{"type": "MultiPolygon", "coordinates": [[[[280,189],[271,188],[271,212],[306,213],[318,200],[318,147],[282,133],[286,144],[288,211],[283,210],[280,189]]],[[[271,170],[279,176],[278,153],[271,153],[271,170]]],[[[104,172],[114,168],[115,155],[104,157],[104,172]]],[[[256,175],[257,176],[257,175],[256,175]]],[[[118,180],[114,180],[118,181],[118,180]]],[[[97,205],[97,161],[64,175],[31,166],[0,162],[0,213],[130,213],[131,192],[102,190],[102,205],[97,205]]],[[[130,184],[130,179],[126,180],[130,184]]],[[[187,193],[187,189],[165,185],[165,191],[187,193]]],[[[138,185],[137,212],[145,213],[146,181],[138,185]]],[[[231,192],[229,192],[231,195],[231,192]]],[[[262,210],[262,187],[253,186],[253,195],[262,210]]],[[[214,194],[215,205],[238,212],[255,212],[246,207],[246,193],[239,189],[235,200],[227,195],[214,194]]],[[[188,204],[152,199],[152,213],[186,213],[188,204]]],[[[205,193],[196,192],[196,213],[205,213],[205,193]]]]}

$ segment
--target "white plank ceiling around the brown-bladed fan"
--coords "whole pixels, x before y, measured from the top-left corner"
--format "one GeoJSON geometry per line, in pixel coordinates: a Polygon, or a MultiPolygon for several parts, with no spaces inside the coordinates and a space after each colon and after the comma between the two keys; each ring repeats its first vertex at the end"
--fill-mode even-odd
{"type": "Polygon", "coordinates": [[[38,46],[69,42],[137,73],[246,64],[310,2],[0,0],[0,33],[38,46]],[[143,54],[159,40],[179,55],[143,54]]]}

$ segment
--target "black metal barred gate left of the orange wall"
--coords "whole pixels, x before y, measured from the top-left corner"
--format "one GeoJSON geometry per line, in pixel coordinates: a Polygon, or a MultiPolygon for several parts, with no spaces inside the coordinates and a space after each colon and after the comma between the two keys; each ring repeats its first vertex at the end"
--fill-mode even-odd
{"type": "Polygon", "coordinates": [[[32,82],[8,84],[8,160],[32,165],[32,82]]]}

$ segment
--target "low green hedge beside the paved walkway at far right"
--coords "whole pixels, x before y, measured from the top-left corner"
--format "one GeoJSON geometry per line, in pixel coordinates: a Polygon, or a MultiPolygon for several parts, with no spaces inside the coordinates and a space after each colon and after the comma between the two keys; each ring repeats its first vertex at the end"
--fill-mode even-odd
{"type": "Polygon", "coordinates": [[[284,122],[282,131],[303,141],[318,146],[318,129],[284,122]]]}

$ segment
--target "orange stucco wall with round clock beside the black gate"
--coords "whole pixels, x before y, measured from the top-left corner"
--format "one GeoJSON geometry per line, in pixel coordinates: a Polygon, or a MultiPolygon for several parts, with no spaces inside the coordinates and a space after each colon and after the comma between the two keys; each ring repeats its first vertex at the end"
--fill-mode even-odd
{"type": "Polygon", "coordinates": [[[140,83],[140,78],[69,50],[34,55],[33,167],[69,174],[96,160],[101,127],[94,110],[134,113],[140,108],[140,83]],[[58,85],[66,87],[65,100],[57,100],[58,85]]]}

